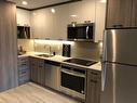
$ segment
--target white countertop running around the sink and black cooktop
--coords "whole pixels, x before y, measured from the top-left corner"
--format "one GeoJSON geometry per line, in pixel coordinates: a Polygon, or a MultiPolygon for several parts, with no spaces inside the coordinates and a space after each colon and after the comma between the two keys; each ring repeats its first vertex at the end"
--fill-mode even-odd
{"type": "MultiPolygon", "coordinates": [[[[43,53],[43,52],[27,52],[26,54],[23,55],[18,55],[18,57],[24,57],[24,56],[33,56],[33,57],[38,57],[38,59],[44,59],[44,60],[50,60],[50,61],[54,61],[54,62],[60,62],[60,63],[66,63],[64,62],[65,60],[71,59],[71,57],[65,57],[61,55],[55,55],[52,57],[42,57],[42,56],[38,56],[39,54],[47,54],[47,53],[43,53]]],[[[73,64],[73,63],[66,63],[66,64],[70,64],[70,65],[76,65],[76,66],[80,66],[86,69],[95,69],[95,70],[99,70],[101,72],[101,63],[98,62],[92,66],[82,66],[82,65],[78,65],[78,64],[73,64]]]]}

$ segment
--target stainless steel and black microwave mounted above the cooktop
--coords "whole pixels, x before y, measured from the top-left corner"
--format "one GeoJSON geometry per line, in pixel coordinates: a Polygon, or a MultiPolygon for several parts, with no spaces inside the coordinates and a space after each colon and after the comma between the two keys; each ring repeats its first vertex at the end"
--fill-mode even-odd
{"type": "Polygon", "coordinates": [[[95,24],[69,24],[67,27],[68,40],[72,41],[94,41],[95,24]]]}

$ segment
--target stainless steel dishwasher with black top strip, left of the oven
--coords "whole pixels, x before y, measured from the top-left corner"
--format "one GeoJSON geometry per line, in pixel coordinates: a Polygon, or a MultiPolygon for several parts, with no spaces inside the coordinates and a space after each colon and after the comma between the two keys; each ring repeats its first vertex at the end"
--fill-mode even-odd
{"type": "Polygon", "coordinates": [[[59,67],[60,63],[45,61],[45,86],[59,90],[59,67]]]}

